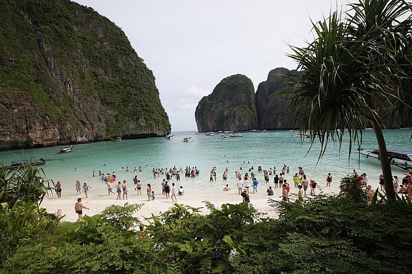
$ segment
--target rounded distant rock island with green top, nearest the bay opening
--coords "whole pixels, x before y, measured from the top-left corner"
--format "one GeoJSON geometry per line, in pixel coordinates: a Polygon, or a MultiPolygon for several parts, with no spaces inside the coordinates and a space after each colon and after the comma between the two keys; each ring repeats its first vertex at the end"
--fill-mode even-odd
{"type": "Polygon", "coordinates": [[[199,101],[195,112],[199,132],[249,130],[258,127],[255,90],[251,79],[232,75],[199,101]]]}

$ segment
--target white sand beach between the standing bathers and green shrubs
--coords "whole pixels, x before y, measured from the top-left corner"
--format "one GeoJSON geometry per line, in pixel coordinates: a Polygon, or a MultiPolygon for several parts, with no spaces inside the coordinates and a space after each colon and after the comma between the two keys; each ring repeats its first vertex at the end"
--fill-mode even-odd
{"type": "MultiPolygon", "coordinates": [[[[103,184],[103,183],[102,183],[103,184]]],[[[225,183],[221,180],[220,182],[216,182],[213,184],[222,184],[222,189],[225,183]]],[[[231,186],[233,184],[229,184],[231,186]]],[[[290,201],[295,201],[297,195],[298,188],[294,188],[291,186],[290,188],[290,201]]],[[[316,193],[323,192],[325,194],[336,194],[339,192],[339,182],[334,182],[331,187],[326,187],[325,182],[318,182],[318,187],[316,188],[316,193]]],[[[159,193],[159,192],[158,192],[159,193]]],[[[308,197],[309,189],[308,189],[308,197]]],[[[166,199],[163,195],[157,195],[154,201],[148,201],[148,197],[146,196],[146,192],[142,191],[142,196],[137,196],[135,190],[133,190],[133,186],[129,186],[128,191],[128,199],[116,199],[117,195],[107,195],[106,192],[100,191],[98,193],[89,190],[89,197],[86,199],[84,194],[78,196],[76,195],[76,191],[73,188],[64,189],[62,191],[62,198],[58,198],[56,193],[52,197],[45,197],[43,203],[41,203],[41,207],[45,208],[47,212],[54,213],[57,210],[62,211],[62,215],[65,215],[62,221],[76,221],[78,218],[78,214],[76,214],[74,210],[74,204],[76,203],[78,197],[82,198],[82,202],[84,206],[90,208],[90,210],[84,210],[84,214],[88,216],[93,216],[94,214],[98,214],[104,210],[107,206],[111,205],[121,205],[123,206],[125,203],[143,203],[144,205],[139,209],[139,211],[135,214],[139,218],[140,221],[144,221],[145,217],[152,216],[152,214],[159,214],[160,212],[165,212],[169,210],[173,203],[172,199],[166,199]]],[[[268,205],[268,199],[274,199],[276,201],[281,201],[282,198],[279,197],[282,195],[282,188],[274,188],[273,183],[260,183],[258,187],[258,192],[253,194],[252,190],[250,190],[250,198],[251,204],[253,207],[258,210],[258,212],[266,213],[269,217],[276,217],[276,210],[275,208],[268,205]],[[274,195],[268,196],[266,193],[266,189],[268,186],[272,186],[274,195]]],[[[190,192],[185,192],[184,195],[176,195],[177,203],[192,206],[194,208],[201,208],[203,207],[203,213],[207,213],[205,208],[205,203],[203,201],[209,201],[213,203],[217,208],[224,203],[241,203],[242,197],[238,194],[238,189],[235,186],[231,186],[230,191],[223,191],[220,192],[205,192],[202,195],[193,195],[190,192]]]]}

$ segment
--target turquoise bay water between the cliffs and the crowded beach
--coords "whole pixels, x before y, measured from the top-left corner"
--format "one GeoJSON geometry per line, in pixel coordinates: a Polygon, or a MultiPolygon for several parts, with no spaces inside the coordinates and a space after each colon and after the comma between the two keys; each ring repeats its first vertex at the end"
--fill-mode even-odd
{"type": "MultiPolygon", "coordinates": [[[[161,179],[153,179],[152,168],[168,168],[176,166],[183,170],[186,166],[197,166],[200,174],[196,178],[185,178],[181,176],[181,182],[186,191],[201,193],[205,188],[216,188],[221,190],[222,172],[229,169],[229,181],[235,186],[235,171],[247,172],[251,166],[257,173],[258,180],[263,182],[263,173],[258,173],[258,166],[262,169],[276,167],[277,173],[286,164],[290,167],[290,173],[286,179],[291,180],[299,166],[302,166],[308,175],[324,182],[328,172],[334,175],[335,180],[345,175],[352,174],[352,170],[365,172],[369,175],[369,182],[378,185],[378,176],[381,173],[378,164],[372,164],[361,158],[358,161],[358,153],[352,152],[350,162],[348,161],[347,143],[341,147],[341,153],[332,142],[328,145],[328,151],[323,158],[317,162],[319,156],[319,143],[315,143],[308,155],[309,142],[307,139],[301,142],[296,132],[280,131],[279,134],[267,132],[243,132],[242,138],[228,138],[222,140],[220,136],[205,136],[205,134],[194,134],[194,132],[173,132],[174,139],[145,138],[136,140],[122,140],[121,142],[95,142],[91,144],[73,145],[73,151],[67,154],[56,152],[60,147],[47,147],[41,149],[25,149],[16,151],[3,151],[0,159],[5,164],[19,158],[30,155],[38,155],[38,158],[47,159],[47,164],[41,166],[45,171],[47,179],[54,182],[60,181],[63,186],[74,184],[77,179],[80,182],[88,182],[90,186],[98,187],[102,192],[106,186],[100,182],[98,171],[102,173],[117,173],[117,179],[126,179],[132,186],[134,177],[133,169],[142,167],[137,176],[144,186],[147,183],[159,185],[161,179]],[[185,136],[192,136],[193,142],[182,142],[185,136]],[[249,162],[249,164],[248,164],[249,162]],[[218,182],[209,183],[209,173],[213,166],[217,167],[218,182]],[[130,171],[126,172],[126,167],[130,171]],[[75,168],[78,171],[73,171],[75,168]],[[123,169],[122,169],[123,168],[123,169]],[[96,177],[92,177],[93,170],[96,177]]],[[[412,142],[409,140],[411,129],[394,129],[385,131],[385,140],[389,149],[405,149],[412,151],[412,142]]],[[[374,132],[364,132],[364,149],[376,149],[374,132]]],[[[250,172],[249,172],[250,174],[250,172]]],[[[393,175],[402,178],[402,171],[393,170],[393,175]]],[[[273,175],[271,176],[273,182],[273,175]]],[[[179,186],[179,184],[178,184],[179,186]]]]}

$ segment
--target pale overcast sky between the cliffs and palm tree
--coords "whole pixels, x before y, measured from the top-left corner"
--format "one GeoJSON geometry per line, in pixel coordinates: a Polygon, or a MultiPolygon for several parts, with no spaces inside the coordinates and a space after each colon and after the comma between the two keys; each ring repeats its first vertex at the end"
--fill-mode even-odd
{"type": "Polygon", "coordinates": [[[121,27],[156,77],[172,132],[196,130],[194,111],[225,77],[255,90],[277,67],[296,69],[288,44],[313,40],[319,21],[345,0],[75,0],[121,27]]]}

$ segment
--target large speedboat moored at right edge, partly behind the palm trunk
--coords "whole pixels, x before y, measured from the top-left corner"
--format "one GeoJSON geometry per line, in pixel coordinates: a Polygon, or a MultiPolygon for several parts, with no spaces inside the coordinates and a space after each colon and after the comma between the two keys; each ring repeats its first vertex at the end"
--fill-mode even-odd
{"type": "MultiPolygon", "coordinates": [[[[412,171],[412,151],[403,151],[396,149],[388,149],[388,157],[391,162],[391,166],[402,171],[412,171]]],[[[379,150],[361,150],[359,153],[364,155],[369,162],[380,164],[379,150]]]]}

